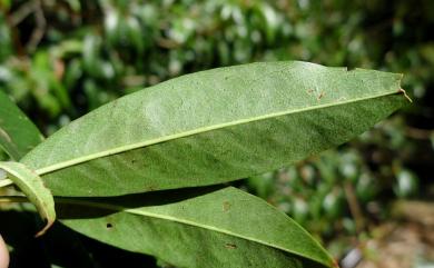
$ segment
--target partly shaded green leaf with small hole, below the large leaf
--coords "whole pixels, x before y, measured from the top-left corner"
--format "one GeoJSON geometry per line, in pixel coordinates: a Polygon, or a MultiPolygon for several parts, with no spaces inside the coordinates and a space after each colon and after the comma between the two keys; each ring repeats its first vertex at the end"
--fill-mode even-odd
{"type": "Polygon", "coordinates": [[[233,187],[56,201],[73,230],[177,267],[334,266],[289,217],[233,187]]]}

